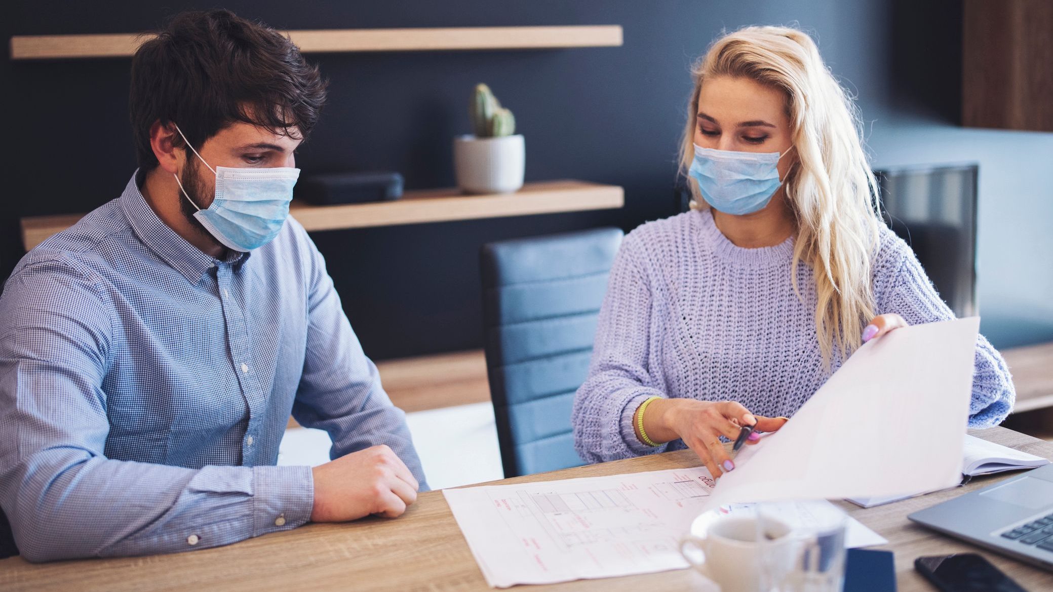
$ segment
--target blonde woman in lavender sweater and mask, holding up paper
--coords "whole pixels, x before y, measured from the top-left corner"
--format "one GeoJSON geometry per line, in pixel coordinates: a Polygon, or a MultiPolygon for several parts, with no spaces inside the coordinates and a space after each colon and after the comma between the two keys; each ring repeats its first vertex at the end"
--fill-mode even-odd
{"type": "MultiPolygon", "coordinates": [[[[588,461],[690,448],[720,476],[720,436],[777,430],[863,341],[954,315],[875,214],[855,107],[808,35],[743,28],[693,76],[681,165],[700,208],[622,242],[573,423],[588,461]]],[[[979,337],[970,426],[1013,399],[979,337]]]]}

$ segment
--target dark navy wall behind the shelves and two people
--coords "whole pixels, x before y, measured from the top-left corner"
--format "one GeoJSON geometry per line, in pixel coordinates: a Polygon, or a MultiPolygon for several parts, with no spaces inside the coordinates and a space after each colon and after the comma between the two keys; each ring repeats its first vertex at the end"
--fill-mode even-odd
{"type": "MultiPolygon", "coordinates": [[[[913,4],[922,4],[914,2],[913,4]]],[[[395,170],[406,186],[453,184],[452,137],[489,83],[526,138],[526,178],[625,188],[623,210],[316,233],[352,324],[377,358],[479,347],[477,253],[500,238],[600,224],[632,229],[673,214],[688,68],[721,28],[798,23],[858,96],[876,166],[980,163],[979,297],[999,347],[1053,339],[1053,134],[963,130],[956,118],[960,6],[918,14],[896,0],[700,2],[226,2],[279,28],[620,24],[624,45],[532,52],[309,55],[331,99],[301,151],[304,174],[395,170]]],[[[11,35],[125,33],[190,2],[19,1],[11,35]]],[[[6,115],[0,277],[21,256],[18,218],[86,212],[135,167],[128,60],[0,62],[6,115]]]]}

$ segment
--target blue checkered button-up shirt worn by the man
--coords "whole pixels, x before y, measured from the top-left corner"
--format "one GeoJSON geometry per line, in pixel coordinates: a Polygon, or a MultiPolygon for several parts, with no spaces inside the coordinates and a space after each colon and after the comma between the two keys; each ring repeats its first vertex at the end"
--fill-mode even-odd
{"type": "Polygon", "coordinates": [[[22,555],[186,551],[306,522],[311,469],[275,466],[290,412],[329,432],[331,457],[385,443],[426,487],[303,228],[214,259],[136,179],[0,296],[0,506],[22,555]]]}

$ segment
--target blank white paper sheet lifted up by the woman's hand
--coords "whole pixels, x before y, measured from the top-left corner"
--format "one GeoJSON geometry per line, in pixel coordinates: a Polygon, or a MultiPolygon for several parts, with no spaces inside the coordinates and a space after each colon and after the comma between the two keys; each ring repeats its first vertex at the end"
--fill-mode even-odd
{"type": "Polygon", "coordinates": [[[742,450],[704,508],[956,485],[978,329],[970,317],[865,343],[782,429],[742,450]]]}

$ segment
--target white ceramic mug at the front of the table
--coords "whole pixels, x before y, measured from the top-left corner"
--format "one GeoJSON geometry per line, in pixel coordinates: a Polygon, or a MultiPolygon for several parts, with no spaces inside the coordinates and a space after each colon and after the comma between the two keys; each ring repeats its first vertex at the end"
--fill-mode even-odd
{"type": "Polygon", "coordinates": [[[680,540],[680,553],[699,573],[720,586],[721,592],[762,592],[762,570],[791,567],[790,527],[764,522],[764,542],[758,542],[754,515],[718,516],[707,512],[692,522],[680,540]]]}

